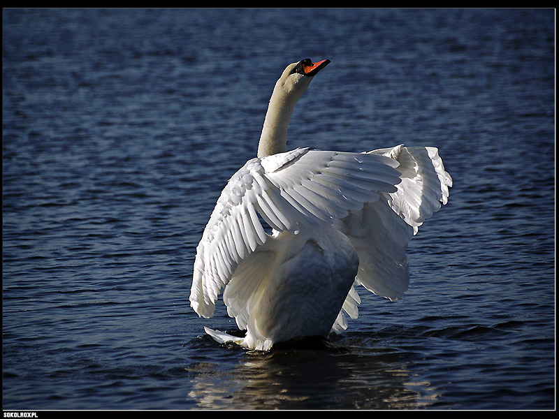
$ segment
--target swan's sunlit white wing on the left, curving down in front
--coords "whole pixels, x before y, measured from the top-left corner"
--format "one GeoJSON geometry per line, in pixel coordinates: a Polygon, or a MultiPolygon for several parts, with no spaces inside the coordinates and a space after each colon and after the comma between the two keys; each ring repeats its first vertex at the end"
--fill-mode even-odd
{"type": "MultiPolygon", "coordinates": [[[[395,192],[398,164],[386,156],[310,149],[248,161],[222,191],[198,244],[191,307],[212,316],[235,269],[268,240],[258,215],[273,229],[293,233],[300,226],[333,223],[380,193],[395,192]]],[[[235,299],[248,300],[249,288],[254,289],[235,299]]]]}

